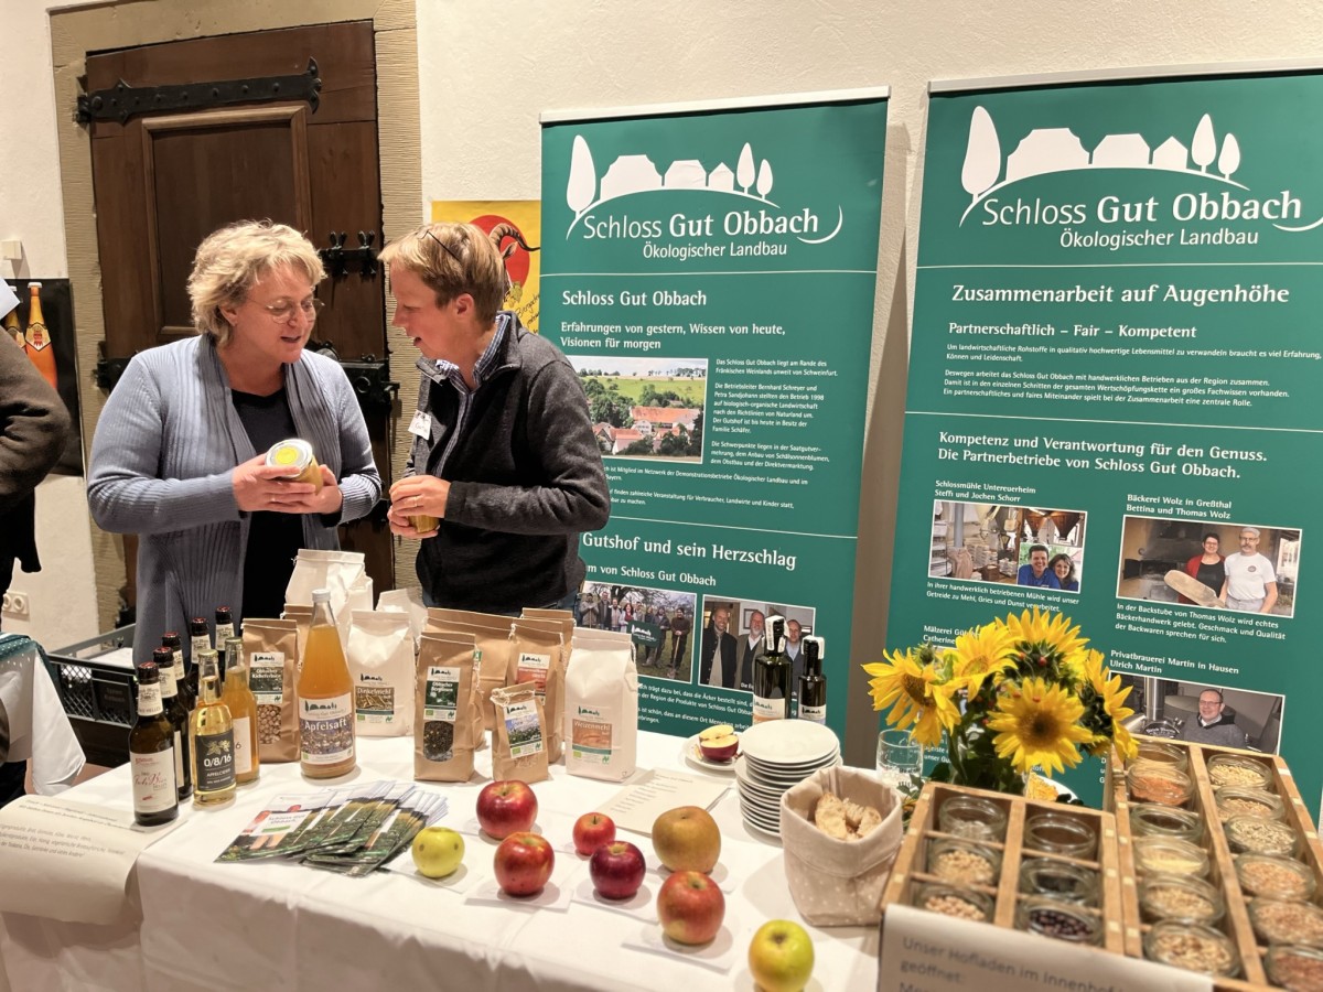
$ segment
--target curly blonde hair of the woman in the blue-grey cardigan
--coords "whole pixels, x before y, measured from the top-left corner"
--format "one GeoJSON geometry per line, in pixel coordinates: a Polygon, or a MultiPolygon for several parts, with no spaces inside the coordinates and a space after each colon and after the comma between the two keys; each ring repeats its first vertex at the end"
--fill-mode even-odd
{"type": "Polygon", "coordinates": [[[230,321],[221,307],[238,307],[277,269],[303,272],[315,287],[325,279],[321,257],[294,227],[271,221],[238,221],[212,231],[197,246],[188,276],[193,327],[224,348],[230,321]]]}

